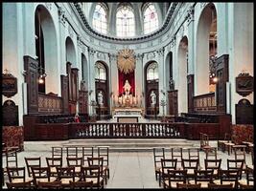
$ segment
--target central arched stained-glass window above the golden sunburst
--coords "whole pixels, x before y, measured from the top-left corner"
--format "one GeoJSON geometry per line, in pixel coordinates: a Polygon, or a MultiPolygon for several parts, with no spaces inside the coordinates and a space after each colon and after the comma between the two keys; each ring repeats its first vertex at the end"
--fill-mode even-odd
{"type": "Polygon", "coordinates": [[[134,36],[135,21],[132,8],[127,5],[121,6],[116,13],[116,34],[117,36],[126,37],[134,36]]]}

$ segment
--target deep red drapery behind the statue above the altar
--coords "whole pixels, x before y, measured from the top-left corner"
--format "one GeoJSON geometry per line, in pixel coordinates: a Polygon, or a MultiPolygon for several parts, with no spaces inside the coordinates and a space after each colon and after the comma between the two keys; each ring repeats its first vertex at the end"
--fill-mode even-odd
{"type": "Polygon", "coordinates": [[[131,86],[130,93],[132,96],[135,96],[135,83],[134,83],[134,71],[129,74],[124,74],[118,70],[118,93],[119,96],[124,94],[123,86],[125,85],[126,80],[128,79],[128,83],[131,86]]]}

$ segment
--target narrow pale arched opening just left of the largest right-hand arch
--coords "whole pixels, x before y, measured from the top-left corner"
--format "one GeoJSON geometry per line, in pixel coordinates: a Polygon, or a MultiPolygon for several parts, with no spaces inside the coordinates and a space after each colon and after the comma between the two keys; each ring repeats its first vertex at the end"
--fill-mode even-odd
{"type": "Polygon", "coordinates": [[[178,61],[178,113],[188,112],[187,71],[188,71],[188,38],[183,36],[177,52],[178,61]]]}

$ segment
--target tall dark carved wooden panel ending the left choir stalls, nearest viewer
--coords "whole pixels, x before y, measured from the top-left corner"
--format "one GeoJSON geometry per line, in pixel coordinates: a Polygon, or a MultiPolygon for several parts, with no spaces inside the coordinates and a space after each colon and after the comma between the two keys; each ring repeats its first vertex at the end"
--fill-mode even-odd
{"type": "Polygon", "coordinates": [[[38,62],[33,57],[24,56],[25,82],[28,90],[28,114],[38,113],[38,62]]]}

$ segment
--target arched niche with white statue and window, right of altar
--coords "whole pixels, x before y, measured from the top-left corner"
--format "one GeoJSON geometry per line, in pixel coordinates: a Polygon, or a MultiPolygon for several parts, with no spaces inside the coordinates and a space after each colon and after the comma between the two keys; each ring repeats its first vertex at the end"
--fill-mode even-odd
{"type": "Polygon", "coordinates": [[[157,62],[148,62],[145,66],[144,74],[146,115],[156,117],[159,114],[159,76],[157,62]]]}

